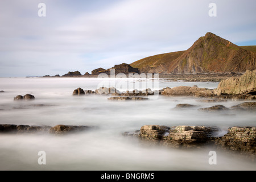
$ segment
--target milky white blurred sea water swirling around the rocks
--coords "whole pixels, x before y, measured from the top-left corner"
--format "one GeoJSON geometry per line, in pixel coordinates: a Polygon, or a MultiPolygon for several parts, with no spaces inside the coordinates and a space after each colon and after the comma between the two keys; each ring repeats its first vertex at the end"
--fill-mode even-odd
{"type": "MultiPolygon", "coordinates": [[[[15,125],[89,125],[97,130],[55,137],[44,135],[0,135],[1,170],[255,170],[255,162],[218,151],[217,165],[209,165],[208,152],[144,146],[139,140],[123,137],[124,131],[143,125],[217,126],[224,135],[228,127],[256,126],[255,113],[202,113],[200,107],[217,104],[231,107],[243,101],[200,102],[188,97],[149,97],[147,101],[108,101],[110,96],[73,97],[74,89],[95,90],[100,83],[120,81],[127,84],[151,80],[98,78],[0,78],[0,124],[15,125]],[[19,94],[31,93],[34,101],[14,102],[19,94]],[[152,98],[152,99],[151,99],[152,98]],[[46,106],[35,106],[43,104],[46,106]],[[195,109],[173,110],[177,104],[199,105],[195,109]],[[47,165],[38,164],[38,152],[46,151],[47,165]]],[[[119,84],[120,85],[120,84],[119,84]]],[[[148,85],[133,89],[146,89],[148,85]]],[[[167,86],[217,88],[217,82],[167,82],[160,80],[154,89],[167,86]]],[[[112,85],[113,86],[113,85],[112,85]]],[[[120,89],[126,90],[125,87],[120,89]]],[[[129,89],[132,90],[132,89],[129,89]]]]}

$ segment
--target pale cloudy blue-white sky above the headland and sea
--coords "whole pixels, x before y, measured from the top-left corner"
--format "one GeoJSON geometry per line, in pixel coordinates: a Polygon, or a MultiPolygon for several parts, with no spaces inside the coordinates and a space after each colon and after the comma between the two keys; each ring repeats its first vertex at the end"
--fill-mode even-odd
{"type": "Polygon", "coordinates": [[[207,32],[256,45],[255,7],[255,0],[0,1],[0,77],[90,73],[186,50],[207,32]]]}

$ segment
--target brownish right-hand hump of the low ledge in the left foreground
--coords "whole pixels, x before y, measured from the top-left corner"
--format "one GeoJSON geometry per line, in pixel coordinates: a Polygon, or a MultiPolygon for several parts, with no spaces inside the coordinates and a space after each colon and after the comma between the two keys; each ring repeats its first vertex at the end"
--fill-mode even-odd
{"type": "Polygon", "coordinates": [[[68,126],[68,125],[56,125],[49,129],[51,134],[65,134],[74,131],[85,131],[90,129],[90,126],[68,126]]]}

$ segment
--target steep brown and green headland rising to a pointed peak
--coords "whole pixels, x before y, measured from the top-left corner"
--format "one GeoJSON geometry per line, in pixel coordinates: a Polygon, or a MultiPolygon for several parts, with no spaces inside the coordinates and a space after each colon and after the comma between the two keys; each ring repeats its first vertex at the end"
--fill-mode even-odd
{"type": "Polygon", "coordinates": [[[254,46],[239,47],[208,32],[187,51],[164,53],[131,63],[140,72],[245,72],[256,69],[254,46]]]}

